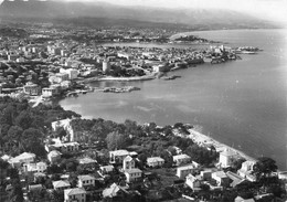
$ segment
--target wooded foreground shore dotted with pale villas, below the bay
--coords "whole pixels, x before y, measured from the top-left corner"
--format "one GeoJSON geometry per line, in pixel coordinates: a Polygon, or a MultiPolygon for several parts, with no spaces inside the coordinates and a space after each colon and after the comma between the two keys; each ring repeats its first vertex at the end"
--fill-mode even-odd
{"type": "Polygon", "coordinates": [[[1,107],[1,201],[283,201],[286,193],[287,174],[273,159],[253,159],[189,124],[81,119],[8,97],[1,107]]]}

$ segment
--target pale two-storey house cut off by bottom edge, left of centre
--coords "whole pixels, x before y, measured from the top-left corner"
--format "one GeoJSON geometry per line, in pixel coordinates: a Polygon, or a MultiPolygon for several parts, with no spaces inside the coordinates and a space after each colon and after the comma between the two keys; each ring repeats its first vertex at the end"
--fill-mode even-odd
{"type": "Polygon", "coordinates": [[[86,194],[81,188],[64,190],[64,202],[86,202],[86,194]]]}

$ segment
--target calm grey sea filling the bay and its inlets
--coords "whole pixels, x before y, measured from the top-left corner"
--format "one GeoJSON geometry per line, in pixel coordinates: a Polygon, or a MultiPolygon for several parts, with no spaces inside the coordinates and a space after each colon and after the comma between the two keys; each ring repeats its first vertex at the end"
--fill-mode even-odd
{"type": "MultiPolygon", "coordinates": [[[[258,158],[270,157],[287,170],[287,30],[190,32],[226,46],[256,46],[254,55],[222,64],[204,63],[169,73],[173,81],[95,82],[94,87],[140,87],[138,92],[91,93],[60,102],[84,118],[173,125],[189,123],[203,134],[258,158]]],[[[199,44],[110,43],[142,47],[194,47],[199,44]]]]}

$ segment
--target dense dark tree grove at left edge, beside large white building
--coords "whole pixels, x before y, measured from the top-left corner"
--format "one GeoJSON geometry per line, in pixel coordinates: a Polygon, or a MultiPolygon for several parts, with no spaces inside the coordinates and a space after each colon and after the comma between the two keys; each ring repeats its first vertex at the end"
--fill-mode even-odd
{"type": "Polygon", "coordinates": [[[30,151],[39,157],[45,156],[43,140],[51,131],[51,123],[57,119],[79,117],[65,111],[61,106],[29,106],[26,100],[18,102],[0,98],[0,151],[19,155],[30,151]]]}

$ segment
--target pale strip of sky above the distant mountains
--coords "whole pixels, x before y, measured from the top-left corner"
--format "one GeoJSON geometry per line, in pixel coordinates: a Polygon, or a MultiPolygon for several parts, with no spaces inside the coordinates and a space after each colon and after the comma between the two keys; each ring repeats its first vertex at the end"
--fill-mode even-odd
{"type": "MultiPolygon", "coordinates": [[[[3,0],[0,0],[0,2],[3,0]]],[[[104,1],[120,6],[145,6],[160,8],[227,9],[277,21],[287,26],[287,0],[64,0],[104,1]]]]}

